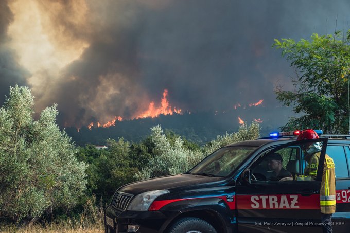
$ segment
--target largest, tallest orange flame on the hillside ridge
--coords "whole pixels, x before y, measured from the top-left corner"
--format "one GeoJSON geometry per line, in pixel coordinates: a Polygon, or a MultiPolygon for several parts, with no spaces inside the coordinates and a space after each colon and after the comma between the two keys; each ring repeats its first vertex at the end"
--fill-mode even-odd
{"type": "Polygon", "coordinates": [[[174,107],[174,109],[171,108],[169,101],[167,100],[167,96],[168,96],[168,90],[165,89],[163,92],[163,98],[161,101],[161,106],[159,107],[155,107],[154,106],[154,102],[152,101],[149,106],[148,106],[148,110],[146,110],[145,112],[139,114],[136,118],[145,118],[145,117],[158,117],[161,114],[164,115],[172,115],[173,113],[178,113],[181,114],[181,109],[176,109],[174,107]]]}

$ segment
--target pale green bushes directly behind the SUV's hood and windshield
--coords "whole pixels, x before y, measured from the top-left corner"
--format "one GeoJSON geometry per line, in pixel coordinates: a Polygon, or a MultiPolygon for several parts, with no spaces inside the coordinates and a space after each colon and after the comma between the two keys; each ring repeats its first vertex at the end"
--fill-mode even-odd
{"type": "Polygon", "coordinates": [[[174,175],[188,171],[198,164],[206,155],[214,152],[222,146],[243,140],[253,140],[259,137],[259,124],[253,122],[249,126],[243,124],[236,133],[226,133],[217,136],[216,140],[209,142],[202,150],[195,147],[191,150],[180,136],[164,134],[160,126],[151,128],[151,140],[154,143],[153,156],[146,167],[136,177],[140,180],[162,176],[174,175]]]}

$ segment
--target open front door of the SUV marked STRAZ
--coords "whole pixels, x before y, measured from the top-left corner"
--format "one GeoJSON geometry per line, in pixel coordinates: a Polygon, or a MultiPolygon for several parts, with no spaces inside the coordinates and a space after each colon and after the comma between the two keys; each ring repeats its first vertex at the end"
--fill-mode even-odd
{"type": "Polygon", "coordinates": [[[241,181],[236,186],[239,232],[320,232],[320,187],[327,140],[319,138],[294,141],[267,148],[256,155],[242,172],[241,181]],[[305,181],[284,182],[269,178],[271,171],[264,167],[264,160],[274,153],[281,154],[287,160],[291,150],[295,150],[296,161],[282,163],[284,169],[294,176],[302,175],[306,165],[302,148],[311,144],[322,148],[316,177],[309,177],[309,180],[306,178],[305,181]],[[248,182],[247,177],[250,180],[248,182]]]}

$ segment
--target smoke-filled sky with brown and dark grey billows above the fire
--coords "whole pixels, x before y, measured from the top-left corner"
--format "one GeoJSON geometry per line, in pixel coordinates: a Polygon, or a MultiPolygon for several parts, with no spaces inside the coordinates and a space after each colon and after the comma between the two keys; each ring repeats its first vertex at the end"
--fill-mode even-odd
{"type": "Polygon", "coordinates": [[[167,89],[183,112],[263,99],[278,115],[275,86],[292,88],[294,71],[274,38],[347,30],[349,12],[348,0],[1,0],[0,103],[26,85],[37,111],[57,103],[61,126],[80,127],[137,117],[167,89]]]}

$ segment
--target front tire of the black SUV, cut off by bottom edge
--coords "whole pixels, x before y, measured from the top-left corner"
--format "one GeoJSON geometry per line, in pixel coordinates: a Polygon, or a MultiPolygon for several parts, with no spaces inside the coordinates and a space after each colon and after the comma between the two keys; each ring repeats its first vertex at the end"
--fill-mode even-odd
{"type": "Polygon", "coordinates": [[[217,233],[215,228],[198,218],[182,218],[176,223],[174,223],[169,231],[169,233],[217,233]]]}

